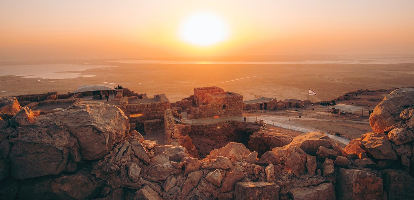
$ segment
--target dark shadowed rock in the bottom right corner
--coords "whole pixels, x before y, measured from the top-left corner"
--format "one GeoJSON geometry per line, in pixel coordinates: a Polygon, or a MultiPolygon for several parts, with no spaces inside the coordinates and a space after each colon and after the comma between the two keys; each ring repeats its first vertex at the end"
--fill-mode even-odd
{"type": "Polygon", "coordinates": [[[414,199],[414,178],[404,170],[383,170],[384,190],[388,199],[414,199]]]}

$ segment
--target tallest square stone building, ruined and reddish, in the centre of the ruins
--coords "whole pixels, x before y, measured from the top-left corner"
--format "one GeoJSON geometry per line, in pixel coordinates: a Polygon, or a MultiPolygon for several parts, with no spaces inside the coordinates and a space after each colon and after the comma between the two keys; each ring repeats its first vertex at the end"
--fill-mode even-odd
{"type": "Polygon", "coordinates": [[[243,96],[235,92],[224,92],[219,87],[194,89],[195,106],[187,109],[189,119],[222,115],[240,115],[243,111],[243,96]]]}

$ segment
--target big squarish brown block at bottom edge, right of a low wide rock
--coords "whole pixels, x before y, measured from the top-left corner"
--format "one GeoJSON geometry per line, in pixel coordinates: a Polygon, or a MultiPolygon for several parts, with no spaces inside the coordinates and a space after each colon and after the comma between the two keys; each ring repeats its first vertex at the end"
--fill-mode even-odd
{"type": "Polygon", "coordinates": [[[339,168],[336,194],[338,200],[382,199],[383,179],[368,171],[339,168]]]}

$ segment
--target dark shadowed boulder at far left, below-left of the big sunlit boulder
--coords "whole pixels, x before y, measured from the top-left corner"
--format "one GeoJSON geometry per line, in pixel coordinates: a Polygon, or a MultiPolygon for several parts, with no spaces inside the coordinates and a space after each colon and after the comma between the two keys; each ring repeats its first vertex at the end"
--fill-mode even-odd
{"type": "Polygon", "coordinates": [[[10,138],[9,153],[14,178],[58,174],[66,169],[69,157],[79,161],[76,138],[56,124],[45,128],[40,125],[19,127],[14,134],[17,137],[10,138]]]}

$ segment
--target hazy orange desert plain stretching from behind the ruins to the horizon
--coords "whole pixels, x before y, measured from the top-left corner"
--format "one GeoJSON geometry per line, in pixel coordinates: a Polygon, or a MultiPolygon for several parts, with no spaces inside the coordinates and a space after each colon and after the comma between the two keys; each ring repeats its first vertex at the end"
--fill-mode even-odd
{"type": "MultiPolygon", "coordinates": [[[[84,60],[77,63],[82,62],[84,60]]],[[[255,95],[277,99],[307,99],[307,90],[311,88],[317,96],[311,96],[310,100],[322,101],[335,99],[357,89],[414,87],[414,82],[409,81],[414,77],[413,63],[167,65],[96,62],[86,65],[113,66],[72,71],[70,73],[87,76],[72,79],[41,80],[0,76],[0,92],[2,96],[51,91],[67,93],[84,84],[109,82],[113,83],[109,84],[111,87],[120,84],[135,92],[147,93],[148,96],[164,93],[170,101],[190,96],[195,87],[213,85],[240,93],[245,100],[253,99],[255,95]],[[95,76],[88,77],[92,75],[95,76]]]]}

